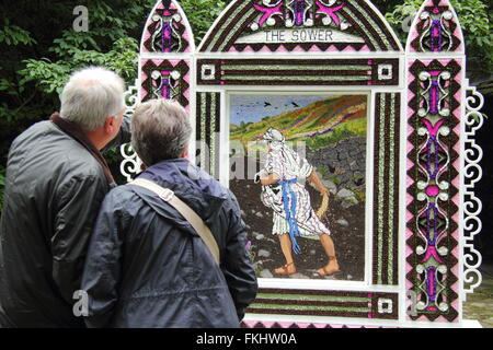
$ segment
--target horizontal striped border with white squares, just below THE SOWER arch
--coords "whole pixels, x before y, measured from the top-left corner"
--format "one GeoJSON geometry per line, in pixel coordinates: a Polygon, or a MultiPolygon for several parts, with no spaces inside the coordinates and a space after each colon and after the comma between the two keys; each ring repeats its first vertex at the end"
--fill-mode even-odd
{"type": "Polygon", "coordinates": [[[198,85],[398,85],[399,59],[199,59],[198,85]]]}

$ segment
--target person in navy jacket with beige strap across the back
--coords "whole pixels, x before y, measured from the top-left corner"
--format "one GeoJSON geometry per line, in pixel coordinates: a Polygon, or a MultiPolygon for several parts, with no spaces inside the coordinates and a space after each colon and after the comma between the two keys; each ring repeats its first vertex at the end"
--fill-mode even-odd
{"type": "Polygon", "coordinates": [[[147,166],[138,179],[172,190],[198,214],[220,258],[186,212],[183,217],[156,192],[135,183],[112,189],[82,278],[88,326],[239,327],[257,283],[234,195],[185,159],[192,128],[177,103],[144,103],[135,110],[131,133],[147,166]]]}

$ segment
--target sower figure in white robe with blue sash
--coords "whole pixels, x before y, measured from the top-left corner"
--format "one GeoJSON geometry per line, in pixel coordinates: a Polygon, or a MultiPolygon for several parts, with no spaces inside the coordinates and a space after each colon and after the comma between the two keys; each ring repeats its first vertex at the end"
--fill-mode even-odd
{"type": "MultiPolygon", "coordinates": [[[[324,197],[325,207],[329,189],[320,182],[313,166],[286,144],[280,131],[271,128],[263,139],[267,142],[268,153],[265,167],[255,175],[255,183],[262,184],[262,202],[274,211],[272,233],[279,237],[286,258],[286,265],[275,269],[275,273],[288,276],[297,272],[293,253],[301,253],[296,241],[301,235],[320,237],[329,258],[329,262],[318,270],[321,277],[339,271],[330,230],[318,218],[311,207],[310,195],[300,180],[308,179],[317,187],[324,197]]],[[[323,208],[321,210],[324,211],[323,208]]]]}

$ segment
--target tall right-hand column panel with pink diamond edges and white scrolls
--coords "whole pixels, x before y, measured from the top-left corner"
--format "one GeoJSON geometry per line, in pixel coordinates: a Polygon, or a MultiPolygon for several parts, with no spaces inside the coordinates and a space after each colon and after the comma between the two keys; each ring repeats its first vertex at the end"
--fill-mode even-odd
{"type": "Polygon", "coordinates": [[[406,285],[412,319],[458,318],[462,60],[409,66],[406,285]]]}

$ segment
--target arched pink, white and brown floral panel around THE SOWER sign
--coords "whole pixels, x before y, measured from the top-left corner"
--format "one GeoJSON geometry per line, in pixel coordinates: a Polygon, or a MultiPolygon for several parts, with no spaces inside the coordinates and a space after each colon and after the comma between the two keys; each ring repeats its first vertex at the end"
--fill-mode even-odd
{"type": "Polygon", "coordinates": [[[397,36],[365,0],[237,0],[207,33],[200,52],[227,51],[400,51],[397,36]],[[360,42],[239,44],[259,30],[329,28],[360,42]]]}

